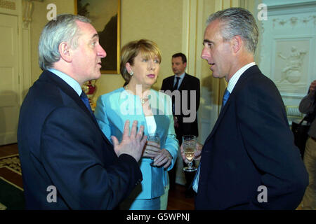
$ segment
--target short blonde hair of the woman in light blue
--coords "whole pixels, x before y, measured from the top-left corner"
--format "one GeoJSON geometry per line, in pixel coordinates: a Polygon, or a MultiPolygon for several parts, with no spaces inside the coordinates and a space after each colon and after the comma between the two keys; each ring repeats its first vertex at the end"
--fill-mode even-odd
{"type": "Polygon", "coordinates": [[[125,80],[125,85],[131,80],[131,75],[126,70],[126,63],[131,65],[134,64],[134,58],[141,53],[145,58],[155,58],[158,57],[159,63],[162,63],[162,55],[158,48],[157,43],[147,39],[140,39],[139,41],[131,41],[126,43],[123,48],[121,48],[121,64],[120,72],[125,80]]]}

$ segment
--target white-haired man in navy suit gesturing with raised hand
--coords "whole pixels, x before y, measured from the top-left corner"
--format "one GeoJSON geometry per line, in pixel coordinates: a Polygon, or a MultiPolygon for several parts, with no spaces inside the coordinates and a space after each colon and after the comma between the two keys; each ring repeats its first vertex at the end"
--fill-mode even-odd
{"type": "Polygon", "coordinates": [[[39,41],[39,79],[20,109],[18,148],[27,209],[114,209],[140,183],[143,127],[126,122],[114,146],[80,85],[100,78],[106,56],[90,21],[59,15],[39,41]]]}

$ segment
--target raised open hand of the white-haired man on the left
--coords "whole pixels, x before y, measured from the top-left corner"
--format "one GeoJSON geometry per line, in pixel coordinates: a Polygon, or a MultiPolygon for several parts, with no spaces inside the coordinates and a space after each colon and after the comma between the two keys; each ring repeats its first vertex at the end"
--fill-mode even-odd
{"type": "Polygon", "coordinates": [[[140,156],[143,153],[143,148],[145,146],[147,137],[143,136],[144,126],[140,125],[137,133],[137,120],[134,120],[133,126],[131,128],[131,135],[129,136],[129,120],[126,120],[124,125],[123,138],[121,143],[117,140],[117,137],[112,136],[112,142],[114,146],[114,151],[117,156],[121,154],[131,155],[137,162],[140,160],[140,156]]]}

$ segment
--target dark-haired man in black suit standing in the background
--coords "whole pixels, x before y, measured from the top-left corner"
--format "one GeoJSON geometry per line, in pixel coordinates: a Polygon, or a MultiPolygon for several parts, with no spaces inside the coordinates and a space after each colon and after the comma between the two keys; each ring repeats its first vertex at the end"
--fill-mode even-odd
{"type": "MultiPolygon", "coordinates": [[[[197,127],[197,110],[199,109],[199,78],[185,73],[187,57],[183,53],[172,55],[172,71],[174,76],[169,76],[162,81],[161,90],[170,94],[173,106],[173,120],[179,145],[185,134],[199,135],[197,127]],[[169,90],[169,91],[168,91],[169,90]],[[187,102],[183,103],[183,102],[187,102]]],[[[184,164],[185,165],[185,164],[184,164]]],[[[171,188],[176,179],[176,169],[169,172],[171,188]]],[[[192,197],[190,188],[195,172],[185,172],[186,197],[192,197]]]]}

